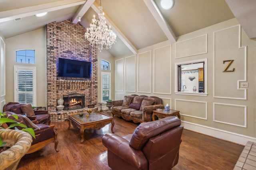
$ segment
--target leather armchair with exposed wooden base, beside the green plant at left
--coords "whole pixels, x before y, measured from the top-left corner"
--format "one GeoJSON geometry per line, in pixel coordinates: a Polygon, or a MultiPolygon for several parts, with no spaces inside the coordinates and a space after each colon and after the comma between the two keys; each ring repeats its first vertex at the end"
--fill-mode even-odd
{"type": "MultiPolygon", "coordinates": [[[[7,111],[5,113],[6,113],[5,117],[7,117],[8,115],[16,114],[10,111],[7,111]]],[[[59,152],[57,149],[57,146],[59,143],[57,139],[58,132],[57,132],[57,129],[54,128],[54,125],[45,125],[41,123],[34,124],[30,119],[28,119],[28,117],[22,116],[19,114],[16,114],[16,115],[18,115],[18,120],[16,120],[12,116],[9,116],[8,118],[18,121],[19,123],[23,123],[27,127],[32,128],[35,132],[36,139],[32,137],[33,141],[31,143],[31,147],[26,154],[36,152],[37,150],[42,149],[43,147],[45,147],[46,145],[52,142],[54,142],[54,149],[56,150],[56,152],[59,152]]],[[[10,126],[10,124],[12,123],[6,123],[6,125],[3,125],[3,127],[6,128],[6,126],[7,127],[10,126]]],[[[17,127],[17,128],[22,129],[21,127],[17,127]]]]}

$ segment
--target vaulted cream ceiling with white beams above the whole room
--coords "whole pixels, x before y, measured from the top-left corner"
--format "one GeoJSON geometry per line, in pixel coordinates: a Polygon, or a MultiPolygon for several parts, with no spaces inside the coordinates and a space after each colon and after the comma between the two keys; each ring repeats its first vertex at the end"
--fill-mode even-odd
{"type": "MultiPolygon", "coordinates": [[[[0,32],[9,38],[64,20],[88,27],[99,5],[100,0],[0,0],[0,32]],[[41,12],[48,14],[35,16],[41,12]]],[[[118,36],[108,50],[114,57],[162,41],[174,43],[180,35],[234,17],[249,38],[256,37],[256,0],[174,0],[170,10],[163,10],[160,0],[102,0],[102,7],[118,36]]]]}

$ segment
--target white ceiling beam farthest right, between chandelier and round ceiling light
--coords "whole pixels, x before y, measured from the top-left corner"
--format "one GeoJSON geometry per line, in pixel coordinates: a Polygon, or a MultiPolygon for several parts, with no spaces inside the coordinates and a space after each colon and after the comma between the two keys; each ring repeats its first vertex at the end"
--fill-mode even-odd
{"type": "Polygon", "coordinates": [[[162,31],[164,31],[164,34],[169,39],[171,43],[176,42],[176,36],[170,26],[167,24],[167,22],[164,20],[164,17],[160,13],[159,9],[156,6],[156,3],[154,0],[143,0],[148,9],[150,10],[151,14],[156,19],[158,25],[161,27],[162,31]]]}

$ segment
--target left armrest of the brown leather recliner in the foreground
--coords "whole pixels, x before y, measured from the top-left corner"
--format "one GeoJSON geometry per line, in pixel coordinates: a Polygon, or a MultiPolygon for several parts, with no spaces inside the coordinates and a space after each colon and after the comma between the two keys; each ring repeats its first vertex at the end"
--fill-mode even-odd
{"type": "Polygon", "coordinates": [[[129,141],[122,137],[108,133],[102,137],[102,143],[108,150],[129,164],[136,166],[138,169],[141,166],[148,165],[148,161],[142,150],[133,149],[130,147],[129,141]]]}

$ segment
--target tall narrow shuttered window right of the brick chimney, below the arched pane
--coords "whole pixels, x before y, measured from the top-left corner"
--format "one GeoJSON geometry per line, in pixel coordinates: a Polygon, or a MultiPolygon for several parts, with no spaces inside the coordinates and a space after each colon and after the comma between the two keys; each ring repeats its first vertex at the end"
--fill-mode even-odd
{"type": "Polygon", "coordinates": [[[102,102],[108,101],[111,99],[111,87],[110,87],[110,72],[101,73],[101,84],[102,84],[102,102]]]}

